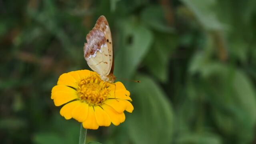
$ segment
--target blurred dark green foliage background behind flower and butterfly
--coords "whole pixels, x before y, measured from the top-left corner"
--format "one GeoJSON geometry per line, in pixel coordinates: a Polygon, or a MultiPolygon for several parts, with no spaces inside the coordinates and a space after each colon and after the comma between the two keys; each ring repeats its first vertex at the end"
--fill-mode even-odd
{"type": "Polygon", "coordinates": [[[50,99],[100,15],[134,112],[103,144],[256,143],[255,0],[0,0],[0,143],[76,144],[50,99]]]}

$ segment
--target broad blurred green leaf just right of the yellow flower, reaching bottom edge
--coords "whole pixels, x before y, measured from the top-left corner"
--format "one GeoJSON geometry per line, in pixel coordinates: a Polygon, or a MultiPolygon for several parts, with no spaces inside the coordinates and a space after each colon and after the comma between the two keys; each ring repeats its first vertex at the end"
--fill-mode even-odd
{"type": "Polygon", "coordinates": [[[128,132],[134,144],[170,144],[173,131],[172,106],[162,89],[148,76],[138,75],[134,84],[134,111],[128,115],[128,132]]]}

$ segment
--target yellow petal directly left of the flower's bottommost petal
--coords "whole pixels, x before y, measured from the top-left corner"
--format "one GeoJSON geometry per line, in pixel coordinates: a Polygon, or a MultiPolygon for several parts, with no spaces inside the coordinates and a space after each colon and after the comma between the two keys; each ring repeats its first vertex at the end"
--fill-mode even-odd
{"type": "Polygon", "coordinates": [[[78,122],[84,122],[88,115],[88,104],[85,102],[80,102],[72,111],[72,118],[76,119],[78,122]]]}

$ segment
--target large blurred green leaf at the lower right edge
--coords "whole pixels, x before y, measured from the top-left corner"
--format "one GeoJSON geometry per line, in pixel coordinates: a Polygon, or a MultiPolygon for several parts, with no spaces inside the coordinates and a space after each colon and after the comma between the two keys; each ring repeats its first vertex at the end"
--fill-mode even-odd
{"type": "Polygon", "coordinates": [[[199,72],[203,91],[198,90],[198,95],[204,92],[210,102],[218,129],[227,137],[250,142],[256,124],[256,94],[250,79],[244,72],[216,62],[202,66],[199,72]]]}

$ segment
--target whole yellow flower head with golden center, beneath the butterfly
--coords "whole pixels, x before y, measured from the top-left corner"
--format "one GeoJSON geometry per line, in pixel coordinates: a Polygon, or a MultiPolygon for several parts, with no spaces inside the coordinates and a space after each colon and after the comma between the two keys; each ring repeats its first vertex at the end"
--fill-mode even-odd
{"type": "Polygon", "coordinates": [[[96,72],[78,70],[62,74],[52,88],[55,106],[64,105],[60,115],[74,118],[84,128],[119,125],[124,122],[124,110],[132,112],[130,92],[121,82],[108,83],[96,72]]]}

